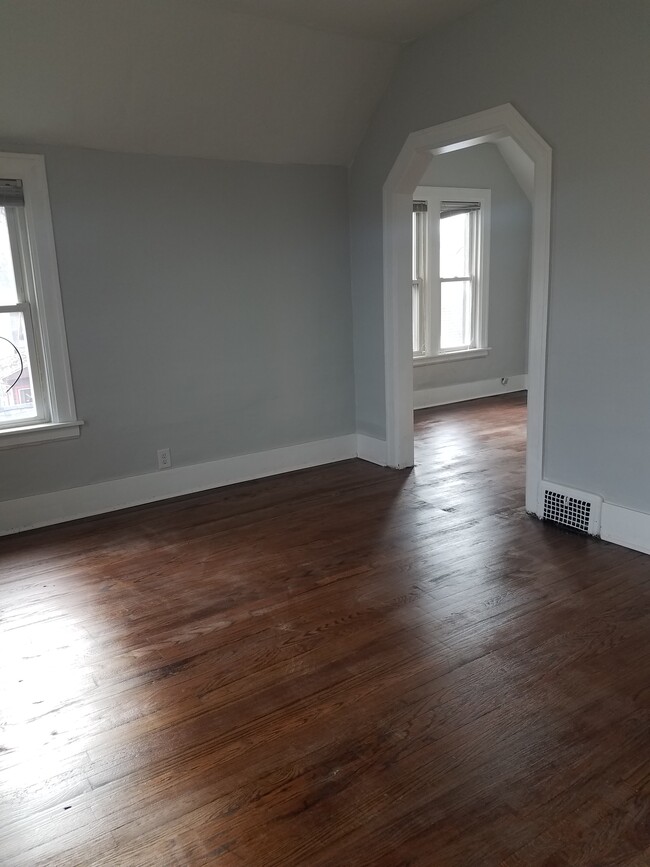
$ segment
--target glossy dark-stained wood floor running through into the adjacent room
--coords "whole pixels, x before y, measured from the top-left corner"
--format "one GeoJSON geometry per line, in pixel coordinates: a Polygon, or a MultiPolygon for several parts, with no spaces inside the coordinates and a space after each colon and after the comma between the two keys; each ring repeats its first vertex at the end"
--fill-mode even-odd
{"type": "Polygon", "coordinates": [[[650,865],[650,558],[524,417],[0,541],[0,863],[650,865]]]}

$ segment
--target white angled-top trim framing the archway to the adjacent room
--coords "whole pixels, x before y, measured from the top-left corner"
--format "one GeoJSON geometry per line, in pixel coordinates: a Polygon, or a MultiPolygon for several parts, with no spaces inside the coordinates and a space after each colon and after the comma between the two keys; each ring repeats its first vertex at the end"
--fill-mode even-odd
{"type": "Polygon", "coordinates": [[[387,462],[414,463],[412,269],[413,194],[435,156],[512,141],[532,163],[528,318],[526,509],[540,514],[550,238],[551,149],[507,104],[412,133],[384,185],[384,315],[387,462]]]}

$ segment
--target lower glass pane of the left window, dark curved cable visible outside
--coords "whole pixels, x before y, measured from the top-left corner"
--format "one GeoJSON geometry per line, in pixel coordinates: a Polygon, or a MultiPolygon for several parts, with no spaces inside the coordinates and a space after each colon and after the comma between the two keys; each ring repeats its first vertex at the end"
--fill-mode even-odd
{"type": "Polygon", "coordinates": [[[0,425],[36,416],[22,313],[0,313],[0,425]]]}

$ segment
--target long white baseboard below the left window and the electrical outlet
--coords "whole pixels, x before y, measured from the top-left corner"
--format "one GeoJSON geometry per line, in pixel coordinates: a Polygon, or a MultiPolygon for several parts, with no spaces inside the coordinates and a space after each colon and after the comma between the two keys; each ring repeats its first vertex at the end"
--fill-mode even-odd
{"type": "Polygon", "coordinates": [[[0,536],[357,457],[355,434],[0,502],[0,536]]]}

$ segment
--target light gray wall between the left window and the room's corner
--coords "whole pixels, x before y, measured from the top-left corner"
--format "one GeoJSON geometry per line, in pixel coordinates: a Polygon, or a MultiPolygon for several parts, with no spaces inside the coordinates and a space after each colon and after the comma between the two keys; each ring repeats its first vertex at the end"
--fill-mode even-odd
{"type": "Polygon", "coordinates": [[[46,157],[86,425],[0,450],[0,499],[354,430],[345,169],[22,150],[46,157]]]}

